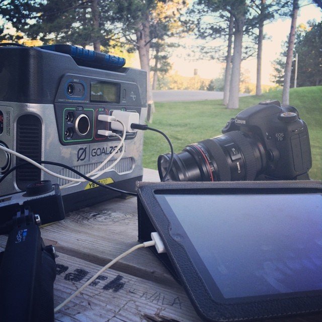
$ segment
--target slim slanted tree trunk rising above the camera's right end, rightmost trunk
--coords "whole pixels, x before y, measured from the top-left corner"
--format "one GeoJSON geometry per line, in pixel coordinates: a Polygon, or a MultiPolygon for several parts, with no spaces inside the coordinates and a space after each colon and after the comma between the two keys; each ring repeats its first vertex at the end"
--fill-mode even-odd
{"type": "Polygon", "coordinates": [[[297,13],[298,13],[298,0],[293,0],[291,31],[288,39],[286,63],[285,63],[285,70],[284,70],[284,84],[283,84],[283,98],[282,98],[283,104],[289,104],[289,99],[290,99],[291,70],[292,70],[293,49],[294,49],[294,42],[295,42],[297,13]]]}

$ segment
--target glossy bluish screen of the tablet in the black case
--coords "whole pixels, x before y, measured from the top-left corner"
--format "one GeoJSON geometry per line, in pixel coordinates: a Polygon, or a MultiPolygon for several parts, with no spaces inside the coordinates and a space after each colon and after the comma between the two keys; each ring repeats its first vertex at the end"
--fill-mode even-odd
{"type": "Polygon", "coordinates": [[[155,196],[224,298],[322,289],[321,194],[155,196]]]}

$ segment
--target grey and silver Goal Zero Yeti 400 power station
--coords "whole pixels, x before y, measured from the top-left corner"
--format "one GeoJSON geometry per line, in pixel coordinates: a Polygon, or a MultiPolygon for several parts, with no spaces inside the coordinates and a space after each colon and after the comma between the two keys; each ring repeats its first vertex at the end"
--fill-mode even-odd
{"type": "MultiPolygon", "coordinates": [[[[134,68],[103,70],[78,65],[68,54],[30,47],[0,48],[0,144],[34,160],[65,164],[87,174],[116,149],[119,139],[103,136],[111,124],[98,116],[115,110],[146,118],[146,72],[134,68]]],[[[121,133],[121,132],[120,132],[121,133]]],[[[143,134],[129,132],[125,152],[117,165],[96,180],[134,191],[141,180],[143,134]]],[[[24,162],[0,151],[0,176],[24,162]]],[[[101,170],[118,157],[118,151],[101,170]]],[[[45,166],[60,175],[71,171],[45,166]]],[[[0,184],[0,196],[25,190],[39,180],[57,179],[35,167],[21,167],[0,184]]],[[[66,211],[103,201],[120,193],[88,182],[62,190],[66,211]]]]}

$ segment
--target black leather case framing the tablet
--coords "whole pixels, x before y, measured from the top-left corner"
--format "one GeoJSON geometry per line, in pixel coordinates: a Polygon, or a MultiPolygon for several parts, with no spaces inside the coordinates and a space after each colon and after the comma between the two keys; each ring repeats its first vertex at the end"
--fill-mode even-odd
{"type": "MultiPolygon", "coordinates": [[[[263,318],[286,317],[295,314],[311,314],[322,311],[322,291],[312,296],[289,296],[283,299],[270,299],[245,303],[222,304],[215,302],[207,288],[203,289],[201,278],[193,264],[182,256],[184,248],[169,234],[169,221],[164,217],[160,206],[154,198],[154,191],[175,189],[191,190],[193,193],[204,194],[209,189],[288,189],[293,193],[322,192],[320,181],[260,181],[260,182],[168,182],[138,183],[138,239],[150,240],[150,233],[157,231],[162,237],[167,253],[153,253],[169,269],[172,275],[183,285],[198,315],[209,321],[248,321],[263,318]],[[198,284],[198,287],[197,287],[198,284]]],[[[231,193],[231,192],[230,192],[231,193]]],[[[322,274],[322,272],[321,272],[322,274]]],[[[322,317],[318,314],[316,320],[322,317]]]]}

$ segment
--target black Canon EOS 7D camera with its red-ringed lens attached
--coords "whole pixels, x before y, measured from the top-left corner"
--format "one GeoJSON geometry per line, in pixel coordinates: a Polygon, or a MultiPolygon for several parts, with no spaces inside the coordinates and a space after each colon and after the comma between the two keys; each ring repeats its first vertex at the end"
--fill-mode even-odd
{"type": "MultiPolygon", "coordinates": [[[[307,126],[295,107],[265,101],[227,122],[222,135],[174,154],[167,180],[307,180],[312,166],[307,126]]],[[[163,179],[171,154],[158,157],[163,179]]]]}

